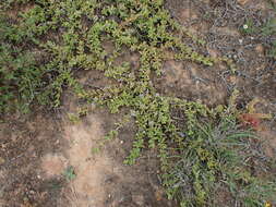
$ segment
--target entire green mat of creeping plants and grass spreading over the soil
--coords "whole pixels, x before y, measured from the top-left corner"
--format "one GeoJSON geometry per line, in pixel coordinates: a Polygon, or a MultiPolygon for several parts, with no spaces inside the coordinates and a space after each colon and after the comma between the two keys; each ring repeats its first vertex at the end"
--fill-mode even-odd
{"type": "MultiPolygon", "coordinates": [[[[87,106],[105,106],[111,113],[129,110],[137,130],[124,163],[134,165],[143,150],[158,148],[168,197],[182,206],[215,206],[219,187],[241,206],[271,202],[275,181],[249,167],[272,165],[259,162],[263,154],[253,150],[256,137],[239,126],[233,101],[209,109],[156,92],[152,76],[161,75],[166,60],[206,66],[225,62],[235,72],[232,60],[203,56],[185,44],[188,37],[205,47],[203,39],[171,19],[163,0],[10,0],[0,5],[2,113],[59,107],[69,88],[87,106]],[[28,9],[13,20],[5,14],[14,8],[28,9]],[[111,52],[103,46],[107,41],[113,45],[111,52]],[[139,54],[139,69],[128,61],[116,64],[130,52],[139,54]],[[87,89],[76,76],[89,70],[100,71],[113,84],[87,89]],[[183,125],[173,119],[175,110],[184,115],[183,125]]],[[[84,107],[69,119],[77,122],[86,113],[84,107]]],[[[118,127],[100,145],[117,134],[118,127]]],[[[71,178],[72,170],[67,174],[71,178]]]]}

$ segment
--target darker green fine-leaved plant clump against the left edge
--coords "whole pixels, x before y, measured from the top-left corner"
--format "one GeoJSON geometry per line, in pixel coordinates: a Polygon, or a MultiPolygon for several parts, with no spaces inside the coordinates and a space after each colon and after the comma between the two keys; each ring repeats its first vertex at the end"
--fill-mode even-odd
{"type": "Polygon", "coordinates": [[[41,71],[34,60],[34,54],[15,45],[26,38],[25,31],[9,25],[9,21],[1,15],[0,32],[0,111],[2,112],[8,110],[11,100],[15,105],[21,100],[24,105],[28,105],[35,97],[36,88],[43,83],[39,81],[41,71]],[[21,100],[16,99],[17,94],[21,94],[21,100]]]}

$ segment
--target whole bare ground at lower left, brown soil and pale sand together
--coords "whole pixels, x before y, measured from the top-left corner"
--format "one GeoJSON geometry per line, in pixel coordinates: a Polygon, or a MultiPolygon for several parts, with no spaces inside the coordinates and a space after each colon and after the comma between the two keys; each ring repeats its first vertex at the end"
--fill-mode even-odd
{"type": "Polygon", "coordinates": [[[160,186],[156,151],[145,151],[135,166],[122,165],[132,147],[134,123],[93,153],[121,114],[98,109],[73,124],[68,112],[75,111],[76,104],[68,99],[65,106],[59,124],[47,115],[1,124],[1,206],[175,206],[160,186]],[[72,180],[67,180],[68,167],[75,174],[72,180]]]}

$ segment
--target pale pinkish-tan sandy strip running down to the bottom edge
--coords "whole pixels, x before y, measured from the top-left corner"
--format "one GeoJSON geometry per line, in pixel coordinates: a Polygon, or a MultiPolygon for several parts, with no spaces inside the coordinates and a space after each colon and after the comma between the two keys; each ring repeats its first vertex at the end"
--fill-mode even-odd
{"type": "Polygon", "coordinates": [[[111,163],[105,155],[92,157],[93,145],[104,132],[99,119],[93,115],[87,119],[91,120],[89,126],[80,123],[64,127],[64,138],[71,146],[67,154],[76,174],[71,184],[76,194],[72,205],[103,206],[107,197],[103,182],[111,163]]]}

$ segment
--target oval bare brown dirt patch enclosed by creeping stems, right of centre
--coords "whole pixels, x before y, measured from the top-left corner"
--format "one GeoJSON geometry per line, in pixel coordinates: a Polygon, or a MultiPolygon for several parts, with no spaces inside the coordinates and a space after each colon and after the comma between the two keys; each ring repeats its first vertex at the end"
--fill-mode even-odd
{"type": "Polygon", "coordinates": [[[202,100],[204,104],[223,104],[227,90],[212,69],[189,62],[167,61],[164,75],[154,80],[159,93],[184,99],[202,100]]]}

